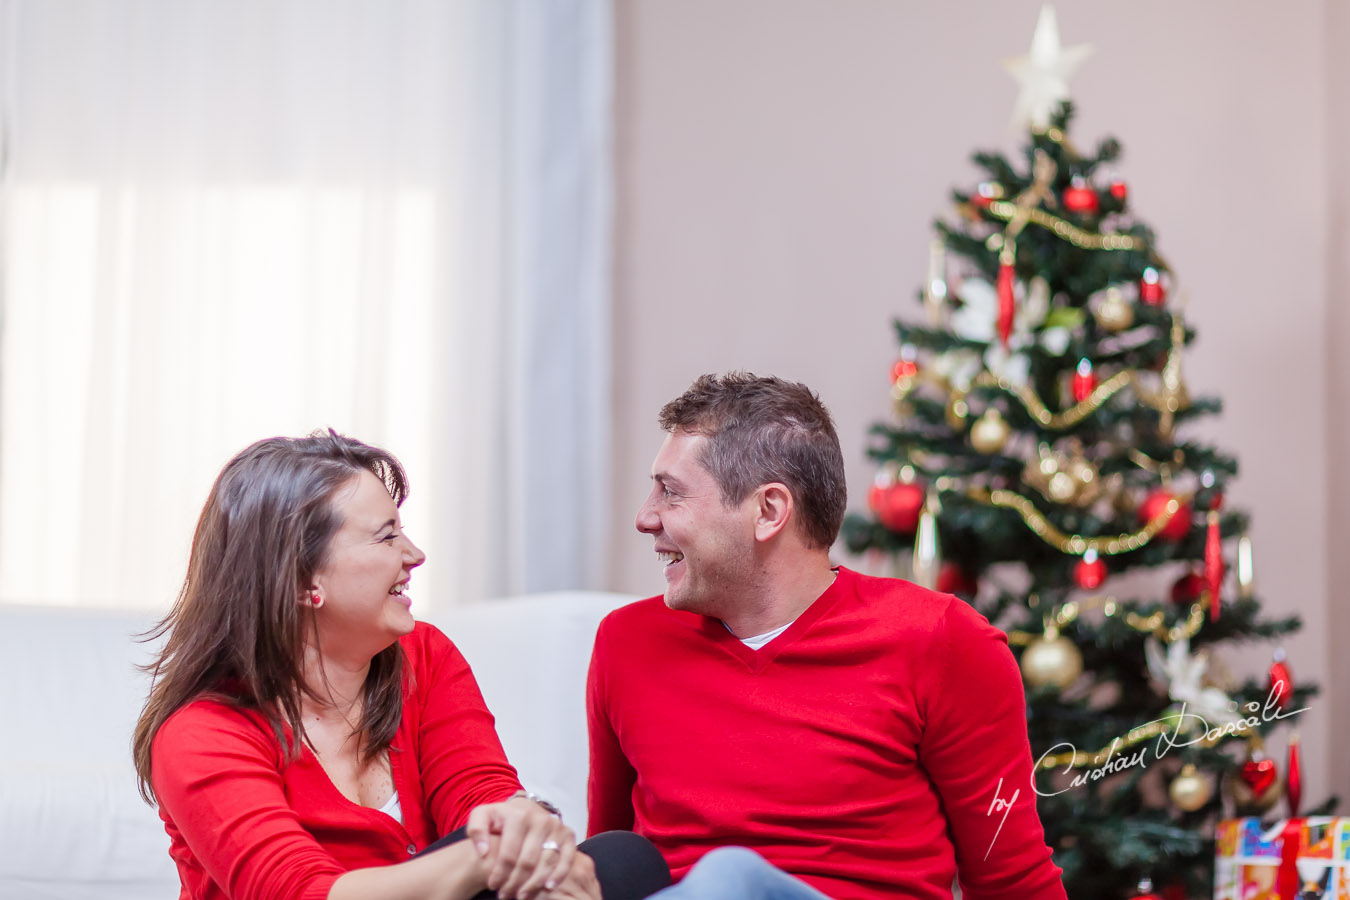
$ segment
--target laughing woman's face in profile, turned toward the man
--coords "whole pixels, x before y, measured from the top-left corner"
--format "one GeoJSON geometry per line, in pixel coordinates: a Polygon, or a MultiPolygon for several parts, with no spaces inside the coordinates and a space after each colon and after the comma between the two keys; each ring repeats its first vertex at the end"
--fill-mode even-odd
{"type": "Polygon", "coordinates": [[[325,656],[370,658],[413,630],[408,579],[427,556],[404,534],[398,507],[373,474],[340,487],[333,509],[342,526],[310,592],[323,598],[320,648],[325,656]]]}

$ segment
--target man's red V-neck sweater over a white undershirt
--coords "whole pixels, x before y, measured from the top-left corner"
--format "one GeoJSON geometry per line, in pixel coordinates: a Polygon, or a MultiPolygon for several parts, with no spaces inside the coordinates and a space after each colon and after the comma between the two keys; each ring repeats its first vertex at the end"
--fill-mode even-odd
{"type": "Polygon", "coordinates": [[[740,845],[838,900],[950,900],[959,870],[967,900],[1065,897],[1017,663],[950,595],[840,568],[757,652],[639,600],[599,626],[587,707],[590,833],[633,828],[676,878],[740,845]],[[995,791],[1021,792],[1006,822],[995,791]]]}

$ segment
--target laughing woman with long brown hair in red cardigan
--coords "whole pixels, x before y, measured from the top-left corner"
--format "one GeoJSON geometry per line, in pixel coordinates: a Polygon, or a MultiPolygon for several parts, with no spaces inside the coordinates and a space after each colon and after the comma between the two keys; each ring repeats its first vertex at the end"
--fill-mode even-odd
{"type": "MultiPolygon", "coordinates": [[[[332,430],[216,479],[134,741],[184,899],[599,900],[606,855],[525,795],[464,658],[412,617],[406,493],[332,430]]],[[[668,882],[651,845],[613,842],[606,900],[668,882]]]]}

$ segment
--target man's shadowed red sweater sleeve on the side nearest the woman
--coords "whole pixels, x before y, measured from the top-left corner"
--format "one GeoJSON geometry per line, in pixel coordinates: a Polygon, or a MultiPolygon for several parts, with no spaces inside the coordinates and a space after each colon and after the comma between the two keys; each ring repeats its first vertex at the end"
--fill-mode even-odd
{"type": "Polygon", "coordinates": [[[628,831],[633,827],[633,785],[637,773],[618,745],[610,719],[605,680],[609,658],[606,634],[610,621],[601,622],[586,676],[586,727],[590,737],[590,779],[586,784],[586,831],[628,831]]]}

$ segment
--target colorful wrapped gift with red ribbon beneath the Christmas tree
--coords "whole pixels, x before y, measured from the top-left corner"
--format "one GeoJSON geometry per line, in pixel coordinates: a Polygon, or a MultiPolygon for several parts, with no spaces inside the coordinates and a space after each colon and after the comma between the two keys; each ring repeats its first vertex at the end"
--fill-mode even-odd
{"type": "Polygon", "coordinates": [[[1214,900],[1350,900],[1350,819],[1220,822],[1214,900]]]}

